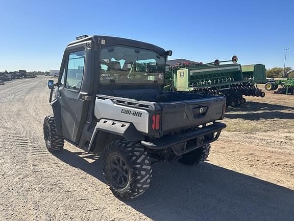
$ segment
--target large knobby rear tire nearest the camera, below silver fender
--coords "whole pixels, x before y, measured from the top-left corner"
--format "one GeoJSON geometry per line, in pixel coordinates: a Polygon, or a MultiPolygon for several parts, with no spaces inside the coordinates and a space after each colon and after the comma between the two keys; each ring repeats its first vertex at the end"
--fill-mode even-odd
{"type": "Polygon", "coordinates": [[[104,150],[103,171],[106,183],[118,198],[136,198],[150,187],[151,162],[139,143],[113,141],[104,150]]]}

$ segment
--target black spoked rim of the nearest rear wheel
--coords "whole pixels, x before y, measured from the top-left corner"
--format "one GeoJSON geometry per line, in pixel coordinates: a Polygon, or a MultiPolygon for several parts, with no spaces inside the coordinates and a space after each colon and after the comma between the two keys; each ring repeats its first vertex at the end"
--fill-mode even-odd
{"type": "Polygon", "coordinates": [[[130,171],[126,161],[119,154],[114,154],[110,158],[110,175],[114,187],[122,189],[127,186],[130,171]]]}

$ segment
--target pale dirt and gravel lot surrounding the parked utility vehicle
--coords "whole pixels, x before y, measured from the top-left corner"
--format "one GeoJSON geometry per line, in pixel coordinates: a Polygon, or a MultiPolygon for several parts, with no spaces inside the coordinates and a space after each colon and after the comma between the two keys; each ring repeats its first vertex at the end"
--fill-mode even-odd
{"type": "Polygon", "coordinates": [[[294,96],[247,97],[206,163],[155,165],[148,192],[122,202],[99,156],[46,150],[47,80],[0,85],[0,220],[294,220],[294,96]]]}

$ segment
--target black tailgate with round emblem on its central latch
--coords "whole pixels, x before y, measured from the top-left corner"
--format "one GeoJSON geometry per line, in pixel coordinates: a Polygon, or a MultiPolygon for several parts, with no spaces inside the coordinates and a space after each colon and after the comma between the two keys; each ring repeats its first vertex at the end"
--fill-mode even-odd
{"type": "Polygon", "coordinates": [[[202,99],[161,103],[162,133],[187,129],[224,118],[226,99],[214,96],[202,99]]]}

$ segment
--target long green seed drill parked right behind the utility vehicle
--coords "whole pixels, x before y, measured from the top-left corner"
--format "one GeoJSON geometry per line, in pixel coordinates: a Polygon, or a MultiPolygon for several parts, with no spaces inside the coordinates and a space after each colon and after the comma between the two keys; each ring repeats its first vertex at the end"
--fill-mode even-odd
{"type": "Polygon", "coordinates": [[[246,75],[243,75],[243,67],[236,63],[237,60],[237,56],[233,56],[232,60],[215,60],[206,64],[179,63],[166,70],[164,89],[223,95],[227,99],[227,106],[233,107],[246,102],[243,96],[264,97],[264,92],[258,89],[256,85],[266,78],[264,65],[250,65],[250,68],[245,68],[248,70],[246,75]],[[229,61],[233,63],[220,64],[229,61]],[[258,68],[264,69],[264,71],[258,71],[258,68]]]}

